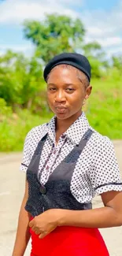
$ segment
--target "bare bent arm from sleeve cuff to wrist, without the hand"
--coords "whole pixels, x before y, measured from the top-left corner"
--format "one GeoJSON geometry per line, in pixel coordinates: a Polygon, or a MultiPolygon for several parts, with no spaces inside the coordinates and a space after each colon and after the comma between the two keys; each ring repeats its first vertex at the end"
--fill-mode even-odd
{"type": "Polygon", "coordinates": [[[109,191],[101,196],[105,207],[82,211],[62,210],[57,225],[84,228],[109,228],[122,225],[122,192],[109,191]]]}

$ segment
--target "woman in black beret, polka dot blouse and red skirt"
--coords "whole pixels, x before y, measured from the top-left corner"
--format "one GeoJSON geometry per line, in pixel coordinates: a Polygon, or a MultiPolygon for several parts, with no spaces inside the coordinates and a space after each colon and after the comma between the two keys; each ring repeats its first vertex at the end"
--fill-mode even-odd
{"type": "Polygon", "coordinates": [[[31,256],[108,256],[98,228],[122,224],[122,183],[112,143],[82,111],[91,65],[81,54],[59,54],[44,79],[55,116],[25,139],[26,187],[13,256],[24,255],[30,236],[31,256]],[[92,210],[94,195],[104,206],[92,210]]]}

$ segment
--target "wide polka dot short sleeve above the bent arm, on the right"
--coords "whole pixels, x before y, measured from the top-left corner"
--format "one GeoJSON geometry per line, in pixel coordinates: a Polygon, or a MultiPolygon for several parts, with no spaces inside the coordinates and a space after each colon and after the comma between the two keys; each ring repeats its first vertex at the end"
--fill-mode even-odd
{"type": "Polygon", "coordinates": [[[95,195],[106,191],[122,191],[120,169],[113,143],[103,136],[96,147],[90,179],[95,195]]]}

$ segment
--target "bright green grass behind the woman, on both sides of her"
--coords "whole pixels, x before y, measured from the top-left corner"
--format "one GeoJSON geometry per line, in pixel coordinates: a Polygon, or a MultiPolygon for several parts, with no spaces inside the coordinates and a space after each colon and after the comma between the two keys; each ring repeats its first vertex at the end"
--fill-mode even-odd
{"type": "MultiPolygon", "coordinates": [[[[93,91],[85,106],[88,121],[102,135],[122,139],[122,80],[93,80],[93,91]]],[[[3,104],[3,102],[2,102],[3,104]]],[[[2,106],[1,106],[2,109],[2,106]]],[[[28,110],[7,112],[0,116],[0,151],[20,151],[31,128],[46,123],[52,114],[32,115],[28,110]],[[8,114],[9,113],[9,114],[8,114]]]]}

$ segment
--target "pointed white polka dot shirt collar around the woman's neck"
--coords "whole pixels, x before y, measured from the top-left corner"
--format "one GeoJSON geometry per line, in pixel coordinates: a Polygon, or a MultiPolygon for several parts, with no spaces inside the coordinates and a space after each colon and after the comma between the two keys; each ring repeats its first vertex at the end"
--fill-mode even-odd
{"type": "MultiPolygon", "coordinates": [[[[53,141],[55,141],[55,121],[56,117],[54,116],[47,125],[48,133],[53,141]]],[[[64,135],[71,139],[73,143],[79,144],[79,141],[83,137],[84,133],[87,132],[88,128],[90,128],[90,124],[83,112],[81,116],[68,128],[68,130],[64,132],[64,135]]]]}

